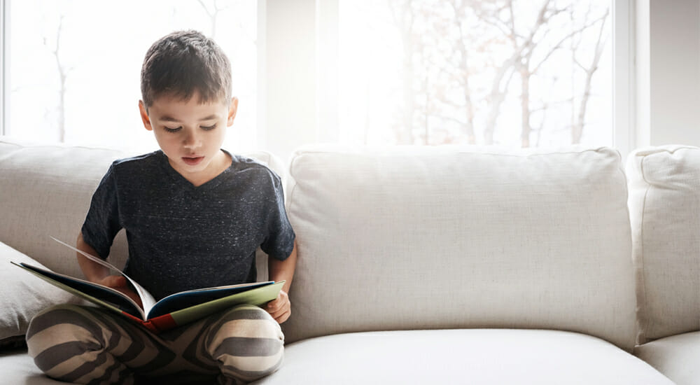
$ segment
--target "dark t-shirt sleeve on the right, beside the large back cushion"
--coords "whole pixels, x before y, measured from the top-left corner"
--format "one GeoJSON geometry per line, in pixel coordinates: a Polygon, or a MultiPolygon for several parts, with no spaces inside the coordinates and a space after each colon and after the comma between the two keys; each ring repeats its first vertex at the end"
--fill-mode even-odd
{"type": "Polygon", "coordinates": [[[276,260],[286,260],[294,248],[295,234],[284,209],[282,183],[279,176],[274,174],[274,172],[270,172],[270,174],[272,175],[273,191],[267,202],[265,223],[267,237],[265,237],[265,241],[262,242],[260,248],[276,260]]]}

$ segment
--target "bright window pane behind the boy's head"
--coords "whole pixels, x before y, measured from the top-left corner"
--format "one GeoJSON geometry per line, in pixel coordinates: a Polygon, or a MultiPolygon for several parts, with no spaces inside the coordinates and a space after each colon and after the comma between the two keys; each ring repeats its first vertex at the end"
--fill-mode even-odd
{"type": "Polygon", "coordinates": [[[255,1],[10,3],[10,125],[6,134],[69,144],[158,148],[139,117],[146,50],[178,29],[213,36],[232,64],[240,99],[226,148],[255,146],[255,1]]]}

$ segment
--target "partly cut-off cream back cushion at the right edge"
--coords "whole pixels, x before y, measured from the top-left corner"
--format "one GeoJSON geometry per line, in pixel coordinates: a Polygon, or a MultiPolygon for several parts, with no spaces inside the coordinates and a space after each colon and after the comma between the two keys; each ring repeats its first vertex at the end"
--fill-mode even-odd
{"type": "Polygon", "coordinates": [[[627,158],[638,343],[700,330],[700,148],[627,158]]]}

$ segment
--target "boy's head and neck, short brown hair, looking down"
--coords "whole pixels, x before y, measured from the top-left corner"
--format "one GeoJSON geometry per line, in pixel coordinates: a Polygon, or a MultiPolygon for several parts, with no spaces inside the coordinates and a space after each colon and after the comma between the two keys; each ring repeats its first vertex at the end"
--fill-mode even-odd
{"type": "Polygon", "coordinates": [[[151,45],[141,68],[141,120],[177,172],[203,183],[230,164],[221,151],[238,99],[231,65],[211,38],[177,31],[151,45]]]}

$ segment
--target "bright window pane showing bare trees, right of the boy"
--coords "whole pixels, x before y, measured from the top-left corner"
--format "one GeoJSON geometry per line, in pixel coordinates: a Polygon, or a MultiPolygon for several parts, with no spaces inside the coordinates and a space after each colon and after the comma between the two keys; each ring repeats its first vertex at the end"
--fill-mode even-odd
{"type": "Polygon", "coordinates": [[[610,0],[339,0],[354,144],[612,145],[610,0]]]}

